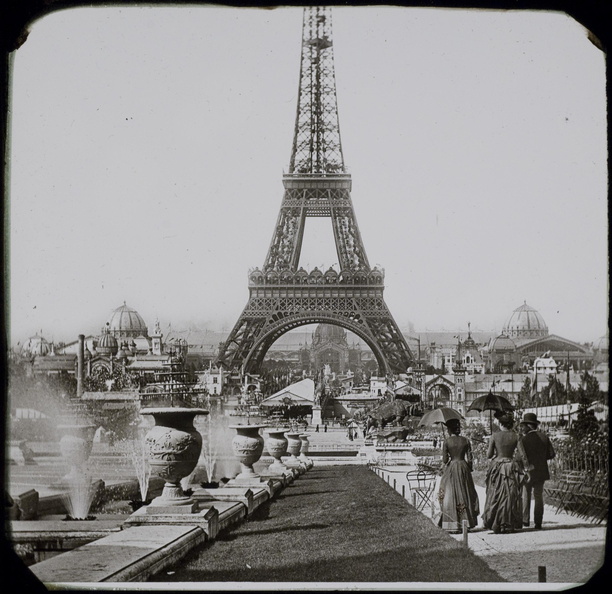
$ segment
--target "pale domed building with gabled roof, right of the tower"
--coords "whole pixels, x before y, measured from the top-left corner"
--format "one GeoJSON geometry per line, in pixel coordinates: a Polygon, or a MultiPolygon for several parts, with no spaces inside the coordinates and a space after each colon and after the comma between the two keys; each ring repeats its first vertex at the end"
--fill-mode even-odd
{"type": "Polygon", "coordinates": [[[544,353],[559,367],[569,362],[574,369],[589,369],[593,358],[587,345],[549,334],[540,312],[525,301],[510,314],[502,333],[489,342],[487,369],[491,373],[525,371],[544,353]]]}

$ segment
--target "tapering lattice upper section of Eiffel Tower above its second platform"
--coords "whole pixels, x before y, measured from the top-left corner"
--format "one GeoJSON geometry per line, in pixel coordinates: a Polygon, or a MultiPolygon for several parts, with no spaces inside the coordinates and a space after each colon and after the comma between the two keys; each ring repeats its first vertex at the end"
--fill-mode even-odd
{"type": "Polygon", "coordinates": [[[329,6],[304,7],[290,174],[344,173],[329,6]]]}

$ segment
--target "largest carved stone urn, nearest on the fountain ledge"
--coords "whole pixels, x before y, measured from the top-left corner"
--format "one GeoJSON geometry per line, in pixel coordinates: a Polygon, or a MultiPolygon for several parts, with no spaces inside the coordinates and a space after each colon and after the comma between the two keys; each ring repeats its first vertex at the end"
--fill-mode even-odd
{"type": "MultiPolygon", "coordinates": [[[[151,502],[151,508],[185,506],[194,511],[196,502],[185,495],[181,479],[189,476],[198,464],[202,436],[193,426],[196,415],[207,415],[203,408],[151,407],[140,411],[151,415],[155,425],[145,435],[145,449],[151,474],[165,481],[162,494],[151,502]]],[[[178,512],[178,509],[177,509],[178,512]]]]}

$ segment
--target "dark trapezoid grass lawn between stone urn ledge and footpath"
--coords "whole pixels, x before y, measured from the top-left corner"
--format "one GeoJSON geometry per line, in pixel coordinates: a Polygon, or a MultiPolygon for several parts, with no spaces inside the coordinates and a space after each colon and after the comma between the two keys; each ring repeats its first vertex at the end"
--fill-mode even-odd
{"type": "Polygon", "coordinates": [[[316,466],[164,582],[502,582],[363,466],[316,466]]]}

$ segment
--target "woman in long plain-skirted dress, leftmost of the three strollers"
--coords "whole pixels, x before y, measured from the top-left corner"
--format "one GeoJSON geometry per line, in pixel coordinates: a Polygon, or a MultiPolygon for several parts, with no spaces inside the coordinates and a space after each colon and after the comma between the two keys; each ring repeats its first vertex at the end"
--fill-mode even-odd
{"type": "Polygon", "coordinates": [[[474,528],[480,513],[472,479],[472,446],[469,439],[459,435],[461,423],[457,419],[449,420],[446,426],[450,435],[442,446],[445,467],[438,491],[442,512],[439,525],[449,532],[461,532],[462,521],[467,520],[468,527],[474,528]]]}

